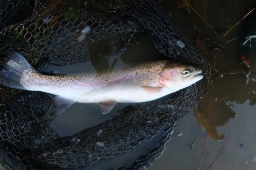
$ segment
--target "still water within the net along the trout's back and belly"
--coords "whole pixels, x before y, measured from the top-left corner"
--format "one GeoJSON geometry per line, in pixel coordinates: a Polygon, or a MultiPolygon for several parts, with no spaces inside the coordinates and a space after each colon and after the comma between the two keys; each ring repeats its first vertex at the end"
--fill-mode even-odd
{"type": "MultiPolygon", "coordinates": [[[[155,50],[153,43],[147,40],[150,40],[149,34],[138,35],[134,38],[127,51],[120,51],[115,55],[110,55],[108,51],[102,51],[101,55],[106,55],[106,58],[65,66],[48,65],[45,72],[60,74],[74,74],[88,71],[104,72],[128,68],[150,59],[159,59],[162,55],[155,50]]],[[[95,53],[98,54],[98,51],[95,51],[95,53]]],[[[95,56],[96,54],[92,53],[91,55],[95,56]]],[[[61,137],[71,136],[87,127],[93,127],[111,119],[117,115],[118,110],[134,105],[135,103],[118,103],[110,113],[102,114],[99,104],[75,103],[68,110],[59,114],[50,126],[61,137]],[[70,119],[71,117],[73,119],[70,119]]]]}

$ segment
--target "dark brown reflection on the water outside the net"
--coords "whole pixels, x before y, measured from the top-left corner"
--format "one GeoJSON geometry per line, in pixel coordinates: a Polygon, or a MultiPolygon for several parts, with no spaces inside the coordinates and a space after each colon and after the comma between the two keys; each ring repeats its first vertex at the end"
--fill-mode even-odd
{"type": "MultiPolygon", "coordinates": [[[[211,138],[220,140],[227,134],[219,133],[217,128],[224,126],[230,119],[236,117],[236,113],[230,109],[227,101],[244,103],[248,100],[250,105],[256,103],[256,95],[254,94],[256,75],[252,73],[247,76],[249,70],[253,72],[256,70],[256,48],[252,44],[252,48],[246,53],[250,60],[250,68],[242,63],[241,51],[239,51],[244,41],[243,36],[248,33],[245,32],[243,24],[248,26],[247,22],[250,20],[236,26],[226,37],[218,38],[192,9],[189,11],[186,4],[189,3],[199,15],[206,17],[206,21],[212,24],[210,26],[217,30],[220,36],[229,29],[226,27],[227,24],[234,25],[251,10],[251,6],[248,5],[249,2],[242,4],[238,0],[232,1],[232,4],[239,7],[236,8],[237,12],[235,13],[232,11],[235,10],[235,6],[229,6],[229,2],[226,1],[204,0],[202,3],[200,0],[179,0],[178,3],[176,2],[164,0],[162,4],[166,12],[172,14],[170,17],[174,23],[182,29],[184,34],[190,37],[203,57],[210,62],[214,77],[212,89],[198,104],[197,109],[194,110],[194,116],[211,138]],[[217,13],[222,14],[221,18],[216,17],[217,13]],[[231,41],[233,38],[234,40],[231,41]]],[[[253,15],[255,16],[255,14],[253,15]]],[[[250,18],[252,19],[252,17],[250,18]]]]}

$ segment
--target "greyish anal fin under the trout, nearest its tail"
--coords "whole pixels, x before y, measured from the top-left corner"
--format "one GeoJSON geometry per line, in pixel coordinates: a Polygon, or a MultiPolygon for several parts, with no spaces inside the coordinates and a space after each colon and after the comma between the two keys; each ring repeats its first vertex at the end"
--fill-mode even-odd
{"type": "Polygon", "coordinates": [[[60,114],[63,111],[67,110],[75,101],[70,99],[64,99],[60,96],[56,96],[53,98],[55,114],[60,114]]]}

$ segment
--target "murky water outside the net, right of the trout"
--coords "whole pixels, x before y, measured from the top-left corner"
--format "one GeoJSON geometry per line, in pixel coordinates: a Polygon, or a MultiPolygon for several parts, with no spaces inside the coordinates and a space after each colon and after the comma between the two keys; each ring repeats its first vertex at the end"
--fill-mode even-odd
{"type": "MultiPolygon", "coordinates": [[[[219,30],[220,35],[230,28],[226,26],[233,26],[255,7],[254,0],[246,3],[239,0],[205,2],[208,3],[207,21],[210,25],[215,25],[214,28],[219,30]]],[[[255,24],[250,24],[256,18],[256,12],[238,24],[227,36],[218,38],[191,8],[189,14],[187,8],[178,9],[176,1],[162,0],[161,4],[167,13],[170,12],[175,25],[192,42],[195,42],[196,34],[209,39],[196,42],[197,47],[211,65],[223,73],[223,77],[215,76],[209,94],[201,100],[196,110],[192,110],[179,122],[176,134],[182,132],[183,135],[174,135],[161,157],[148,170],[255,170],[256,83],[253,76],[256,75],[252,74],[252,78],[247,80],[249,70],[242,64],[239,53],[245,40],[239,37],[256,33],[255,24]],[[234,37],[238,38],[227,43],[234,37]],[[221,48],[217,43],[207,47],[211,42],[225,47],[221,48]],[[239,70],[245,74],[227,74],[240,72],[239,70]],[[189,144],[192,143],[191,149],[189,144]]],[[[204,17],[202,0],[195,0],[191,5],[204,17]]],[[[256,47],[252,46],[250,51],[249,48],[241,51],[249,58],[251,71],[256,72],[256,47]]]]}

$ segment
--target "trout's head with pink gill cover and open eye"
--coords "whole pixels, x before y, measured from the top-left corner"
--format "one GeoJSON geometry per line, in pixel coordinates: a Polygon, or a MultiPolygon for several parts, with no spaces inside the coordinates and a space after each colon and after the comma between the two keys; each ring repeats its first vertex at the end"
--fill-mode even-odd
{"type": "Polygon", "coordinates": [[[200,68],[192,65],[170,62],[165,65],[159,82],[175,92],[201,80],[203,78],[201,73],[200,68]]]}

